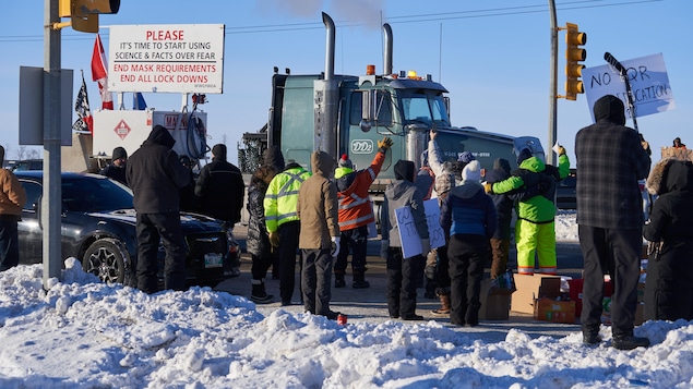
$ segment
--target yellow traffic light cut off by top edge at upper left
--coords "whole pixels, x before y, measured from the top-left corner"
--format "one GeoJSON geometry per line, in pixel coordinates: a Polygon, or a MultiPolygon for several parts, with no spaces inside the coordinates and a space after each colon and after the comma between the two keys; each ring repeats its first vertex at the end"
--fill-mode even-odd
{"type": "Polygon", "coordinates": [[[99,13],[118,13],[120,0],[60,0],[60,17],[70,17],[72,29],[83,33],[98,33],[99,13]]]}

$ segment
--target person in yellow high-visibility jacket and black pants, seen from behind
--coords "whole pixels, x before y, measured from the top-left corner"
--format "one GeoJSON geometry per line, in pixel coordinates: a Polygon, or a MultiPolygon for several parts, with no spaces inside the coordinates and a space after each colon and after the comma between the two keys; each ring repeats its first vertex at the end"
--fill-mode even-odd
{"type": "Polygon", "coordinates": [[[301,230],[296,212],[298,190],[310,175],[311,173],[296,161],[289,160],[284,171],[270,182],[263,202],[270,243],[278,250],[282,306],[291,305],[294,295],[296,251],[301,230]]]}

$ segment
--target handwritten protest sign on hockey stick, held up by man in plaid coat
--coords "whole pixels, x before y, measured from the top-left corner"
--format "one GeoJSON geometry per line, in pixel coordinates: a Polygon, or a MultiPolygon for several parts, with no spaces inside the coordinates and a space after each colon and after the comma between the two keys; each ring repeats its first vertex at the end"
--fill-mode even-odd
{"type": "MultiPolygon", "coordinates": [[[[661,53],[621,61],[621,64],[626,69],[636,118],[676,108],[661,53]]],[[[583,70],[583,84],[593,121],[595,120],[593,107],[600,97],[606,95],[613,95],[623,100],[625,116],[632,119],[625,83],[616,69],[609,64],[586,68],[583,70]]]]}

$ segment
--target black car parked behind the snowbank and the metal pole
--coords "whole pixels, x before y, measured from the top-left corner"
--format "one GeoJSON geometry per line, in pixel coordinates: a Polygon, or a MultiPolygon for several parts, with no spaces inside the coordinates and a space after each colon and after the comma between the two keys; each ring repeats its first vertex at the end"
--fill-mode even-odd
{"type": "MultiPolygon", "coordinates": [[[[26,190],[19,222],[20,263],[43,262],[40,199],[43,171],[17,171],[26,190]]],[[[105,282],[134,285],[131,264],[136,264],[135,211],[132,192],[98,174],[62,173],[62,258],[75,257],[84,271],[105,282]]],[[[240,251],[230,230],[216,219],[181,212],[186,238],[189,284],[214,284],[239,275],[240,251]]],[[[163,280],[164,247],[159,246],[163,280]]]]}

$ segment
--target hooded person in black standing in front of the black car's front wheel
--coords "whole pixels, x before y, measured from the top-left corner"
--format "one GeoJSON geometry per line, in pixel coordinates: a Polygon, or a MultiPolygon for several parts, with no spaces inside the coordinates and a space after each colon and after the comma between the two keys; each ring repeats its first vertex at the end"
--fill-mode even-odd
{"type": "Polygon", "coordinates": [[[190,182],[189,171],[172,147],[176,139],[156,125],[128,160],[126,177],[134,195],[138,214],[138,288],[158,291],[157,254],[159,242],[166,251],[165,289],[186,288],[186,243],[180,226],[179,190],[190,182]]]}

